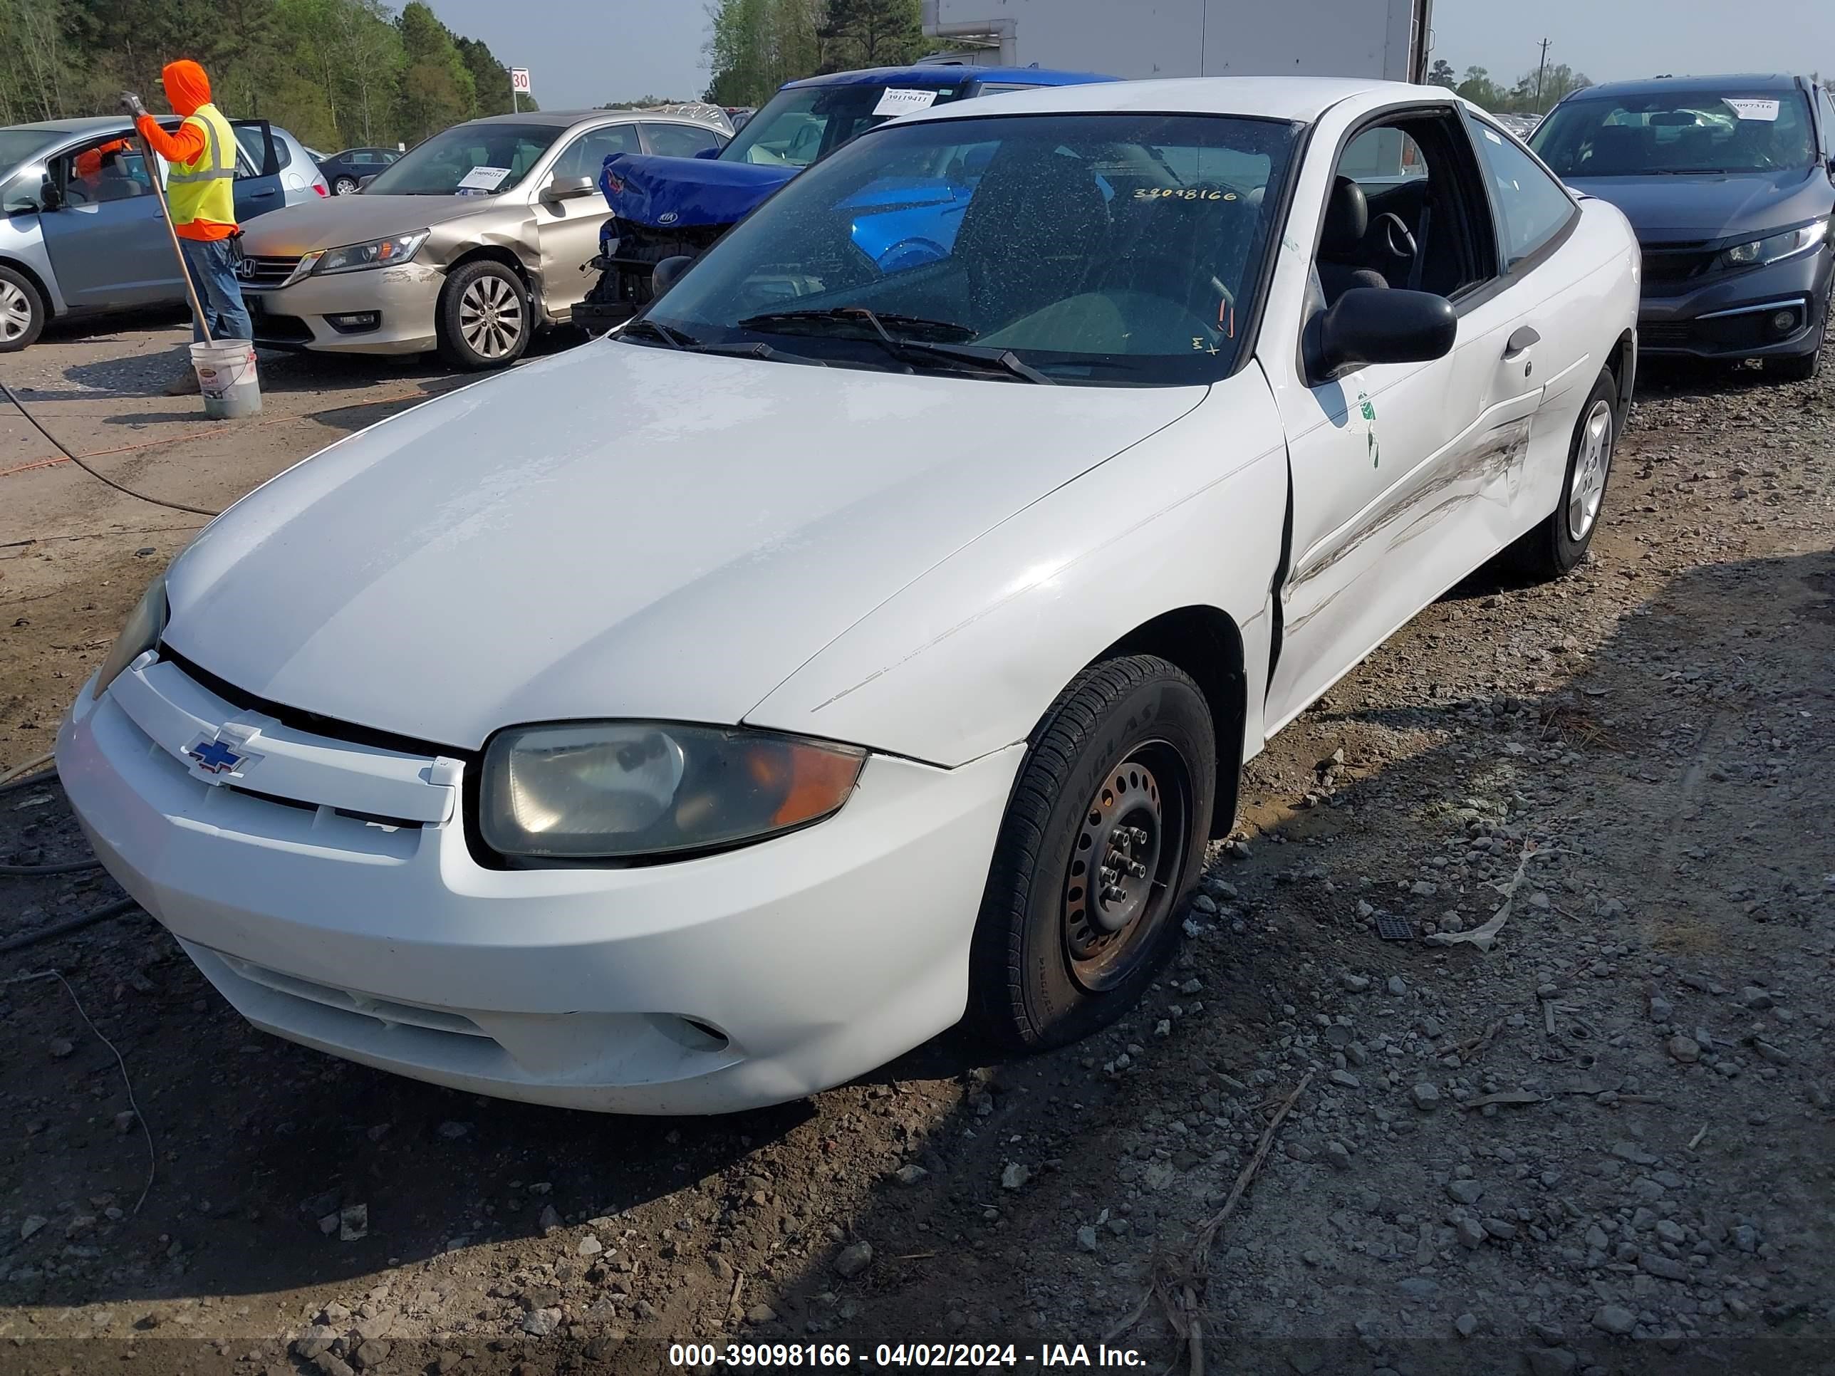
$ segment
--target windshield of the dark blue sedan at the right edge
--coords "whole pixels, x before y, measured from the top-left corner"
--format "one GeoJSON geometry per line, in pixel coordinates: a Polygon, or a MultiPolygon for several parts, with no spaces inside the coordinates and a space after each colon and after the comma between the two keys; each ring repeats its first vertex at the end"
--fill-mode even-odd
{"type": "Polygon", "coordinates": [[[1563,101],[1529,147],[1563,178],[1771,172],[1815,161],[1802,92],[1738,88],[1563,101]]]}

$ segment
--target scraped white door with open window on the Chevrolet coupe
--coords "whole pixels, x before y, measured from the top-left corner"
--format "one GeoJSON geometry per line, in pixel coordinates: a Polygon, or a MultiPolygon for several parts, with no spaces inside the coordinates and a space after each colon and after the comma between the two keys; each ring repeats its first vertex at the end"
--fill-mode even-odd
{"type": "MultiPolygon", "coordinates": [[[[1496,240],[1459,114],[1450,105],[1400,110],[1323,149],[1316,136],[1314,149],[1314,158],[1329,161],[1308,169],[1318,218],[1286,231],[1290,244],[1314,246],[1310,301],[1296,312],[1299,321],[1358,284],[1413,284],[1453,301],[1461,317],[1444,358],[1363,365],[1338,378],[1310,376],[1305,334],[1275,334],[1272,349],[1264,338],[1257,350],[1288,433],[1292,477],[1290,552],[1275,589],[1270,732],[1483,561],[1488,538],[1474,534],[1472,519],[1477,473],[1485,462],[1521,461],[1519,451],[1483,457],[1503,413],[1486,416],[1468,380],[1472,350],[1492,347],[1494,316],[1507,306],[1486,310],[1496,240]],[[1393,138],[1398,132],[1407,139],[1393,138]],[[1417,161],[1404,161],[1404,152],[1417,161]],[[1345,182],[1362,193],[1363,227],[1345,209],[1358,204],[1341,191],[1345,182]],[[1398,196],[1398,189],[1411,194],[1398,196]],[[1396,209],[1369,220],[1373,198],[1396,209]],[[1393,251],[1391,240],[1413,242],[1415,253],[1393,251]]],[[[1516,405],[1534,409],[1532,400],[1516,405]]]]}

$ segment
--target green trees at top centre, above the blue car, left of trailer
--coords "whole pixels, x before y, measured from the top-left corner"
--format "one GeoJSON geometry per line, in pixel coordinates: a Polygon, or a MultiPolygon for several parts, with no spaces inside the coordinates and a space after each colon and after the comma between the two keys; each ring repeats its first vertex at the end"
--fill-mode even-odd
{"type": "Polygon", "coordinates": [[[901,66],[938,48],[919,0],[712,0],[708,20],[716,105],[763,105],[785,81],[901,66]]]}

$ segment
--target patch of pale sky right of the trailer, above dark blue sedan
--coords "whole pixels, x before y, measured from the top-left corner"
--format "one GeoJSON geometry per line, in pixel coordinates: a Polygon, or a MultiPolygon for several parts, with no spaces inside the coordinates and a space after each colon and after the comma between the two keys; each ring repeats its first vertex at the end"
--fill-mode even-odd
{"type": "Polygon", "coordinates": [[[1593,81],[1666,72],[1835,73],[1835,0],[1433,0],[1433,57],[1499,84],[1549,61],[1593,81]]]}

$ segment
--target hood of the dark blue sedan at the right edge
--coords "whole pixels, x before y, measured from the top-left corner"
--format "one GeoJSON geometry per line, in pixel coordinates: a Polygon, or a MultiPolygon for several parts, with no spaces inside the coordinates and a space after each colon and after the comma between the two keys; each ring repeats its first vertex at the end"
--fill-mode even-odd
{"type": "Polygon", "coordinates": [[[1639,242],[1674,244],[1762,235],[1828,215],[1835,191],[1820,167],[1696,176],[1580,176],[1574,191],[1609,200],[1639,242]]]}

